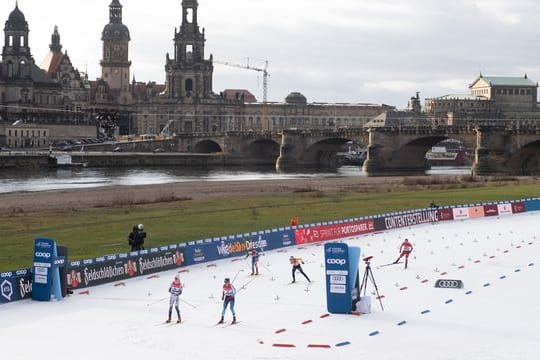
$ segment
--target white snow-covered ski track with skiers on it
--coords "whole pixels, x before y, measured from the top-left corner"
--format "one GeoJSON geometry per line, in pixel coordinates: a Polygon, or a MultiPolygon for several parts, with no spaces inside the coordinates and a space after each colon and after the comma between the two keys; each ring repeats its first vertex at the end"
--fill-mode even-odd
{"type": "Polygon", "coordinates": [[[362,257],[374,256],[384,295],[384,311],[372,297],[372,312],[360,316],[325,316],[324,247],[315,244],[265,253],[255,277],[249,259],[185,268],[179,325],[163,324],[175,271],[78,290],[60,302],[3,305],[1,358],[540,359],[538,223],[540,212],[523,213],[348,239],[362,257]],[[405,237],[414,246],[409,268],[379,267],[396,259],[405,237]],[[290,255],[304,259],[312,284],[298,273],[290,284],[290,255]],[[240,323],[216,326],[223,279],[236,275],[240,323]],[[437,279],[459,279],[464,288],[435,288],[437,279]]]}

